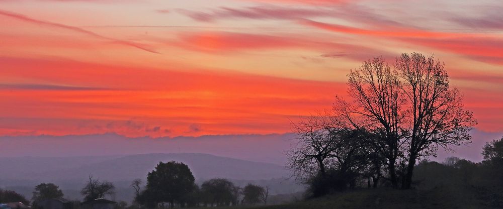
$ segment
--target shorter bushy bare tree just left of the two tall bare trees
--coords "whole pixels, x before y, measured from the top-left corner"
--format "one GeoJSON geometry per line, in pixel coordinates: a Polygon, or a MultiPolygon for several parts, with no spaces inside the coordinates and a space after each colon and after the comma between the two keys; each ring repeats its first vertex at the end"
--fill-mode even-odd
{"type": "MultiPolygon", "coordinates": [[[[370,149],[365,139],[370,134],[349,128],[343,119],[325,112],[294,124],[298,138],[287,153],[288,166],[309,185],[313,197],[354,187],[366,169],[370,149]]],[[[368,167],[367,172],[374,170],[368,167]]]]}

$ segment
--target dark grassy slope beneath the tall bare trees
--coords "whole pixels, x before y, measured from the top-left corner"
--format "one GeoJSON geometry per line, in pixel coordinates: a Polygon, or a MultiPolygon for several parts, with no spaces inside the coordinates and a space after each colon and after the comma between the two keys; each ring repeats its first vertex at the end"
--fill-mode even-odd
{"type": "Polygon", "coordinates": [[[286,205],[263,209],[304,208],[496,208],[475,188],[435,188],[430,190],[358,189],[286,205]],[[485,200],[484,200],[485,199],[485,200]]]}

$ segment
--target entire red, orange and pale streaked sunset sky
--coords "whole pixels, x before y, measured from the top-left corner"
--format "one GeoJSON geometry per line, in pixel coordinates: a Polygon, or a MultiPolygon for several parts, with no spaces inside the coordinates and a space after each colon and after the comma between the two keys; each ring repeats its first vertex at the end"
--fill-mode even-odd
{"type": "Polygon", "coordinates": [[[477,132],[493,136],[501,11],[498,0],[0,0],[0,136],[285,134],[345,96],[350,69],[411,52],[445,62],[477,132]]]}

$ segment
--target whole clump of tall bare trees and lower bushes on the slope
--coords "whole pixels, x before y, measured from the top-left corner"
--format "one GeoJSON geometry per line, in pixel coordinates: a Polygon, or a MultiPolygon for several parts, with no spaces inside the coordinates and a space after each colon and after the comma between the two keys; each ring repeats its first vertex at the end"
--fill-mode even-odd
{"type": "Polygon", "coordinates": [[[311,195],[365,181],[408,189],[418,161],[470,142],[477,122],[433,56],[376,57],[347,77],[348,99],[337,96],[331,110],[293,124],[288,166],[311,195]]]}

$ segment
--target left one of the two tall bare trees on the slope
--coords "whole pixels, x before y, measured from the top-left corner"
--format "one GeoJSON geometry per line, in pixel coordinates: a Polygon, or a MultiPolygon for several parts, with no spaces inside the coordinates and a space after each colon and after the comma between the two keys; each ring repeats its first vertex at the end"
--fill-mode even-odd
{"type": "Polygon", "coordinates": [[[398,71],[382,57],[365,61],[348,74],[348,93],[353,102],[338,97],[334,109],[357,129],[373,130],[381,136],[375,147],[387,159],[393,187],[398,186],[396,160],[402,140],[405,103],[398,71]]]}

